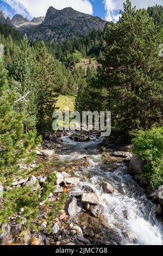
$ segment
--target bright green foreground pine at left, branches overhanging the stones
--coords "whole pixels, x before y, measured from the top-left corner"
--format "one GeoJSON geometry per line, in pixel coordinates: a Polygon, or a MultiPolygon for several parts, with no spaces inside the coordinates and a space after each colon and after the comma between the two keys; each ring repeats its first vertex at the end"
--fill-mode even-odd
{"type": "MultiPolygon", "coordinates": [[[[11,220],[16,223],[24,223],[26,228],[39,231],[40,203],[49,205],[49,193],[55,192],[56,176],[53,172],[49,175],[42,189],[33,192],[32,186],[12,187],[15,179],[26,178],[32,172],[42,167],[28,169],[30,163],[35,160],[35,149],[41,143],[41,137],[36,137],[36,131],[24,132],[24,116],[15,111],[17,97],[10,92],[6,71],[0,61],[0,182],[4,188],[1,194],[0,225],[11,220]],[[23,164],[27,168],[22,169],[23,164]],[[7,187],[10,187],[8,190],[7,187]],[[23,209],[23,211],[22,211],[23,209]]],[[[37,185],[37,184],[36,184],[37,185]]],[[[65,204],[66,194],[62,194],[60,201],[55,202],[48,218],[47,227],[51,231],[51,224],[59,210],[65,204]]],[[[51,205],[52,206],[52,205],[51,205]]],[[[1,232],[1,230],[0,230],[1,232]]]]}

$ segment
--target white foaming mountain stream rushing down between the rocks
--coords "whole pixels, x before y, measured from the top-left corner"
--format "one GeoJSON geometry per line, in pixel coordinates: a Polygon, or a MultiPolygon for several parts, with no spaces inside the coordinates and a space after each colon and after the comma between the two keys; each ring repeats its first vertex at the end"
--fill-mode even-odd
{"type": "Polygon", "coordinates": [[[121,244],[163,245],[163,226],[155,217],[156,205],[126,173],[127,167],[117,163],[117,169],[113,172],[103,170],[102,154],[96,149],[101,138],[92,135],[91,141],[82,143],[71,141],[68,137],[62,137],[62,140],[60,159],[63,162],[87,157],[90,165],[75,174],[87,177],[87,181],[80,185],[89,185],[97,193],[104,206],[106,220],[122,237],[121,244]],[[116,191],[113,194],[104,193],[99,186],[100,181],[109,181],[116,191]],[[128,239],[124,236],[124,230],[130,234],[128,239]]]}

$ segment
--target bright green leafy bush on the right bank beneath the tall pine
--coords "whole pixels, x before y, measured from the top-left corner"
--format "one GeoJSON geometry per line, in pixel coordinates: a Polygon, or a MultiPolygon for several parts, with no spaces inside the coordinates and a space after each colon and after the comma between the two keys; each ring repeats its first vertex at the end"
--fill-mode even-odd
{"type": "Polygon", "coordinates": [[[163,126],[138,131],[133,143],[134,153],[144,162],[143,175],[149,179],[151,188],[158,188],[163,183],[163,126]]]}

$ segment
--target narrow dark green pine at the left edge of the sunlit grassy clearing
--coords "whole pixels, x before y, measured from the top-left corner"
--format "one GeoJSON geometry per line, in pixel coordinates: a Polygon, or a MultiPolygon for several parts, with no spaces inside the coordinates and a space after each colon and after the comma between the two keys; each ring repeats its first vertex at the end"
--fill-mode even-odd
{"type": "Polygon", "coordinates": [[[37,48],[37,62],[39,63],[39,113],[38,124],[39,130],[48,129],[52,126],[52,114],[57,102],[58,93],[56,93],[56,77],[54,59],[47,53],[45,43],[40,42],[37,48]]]}

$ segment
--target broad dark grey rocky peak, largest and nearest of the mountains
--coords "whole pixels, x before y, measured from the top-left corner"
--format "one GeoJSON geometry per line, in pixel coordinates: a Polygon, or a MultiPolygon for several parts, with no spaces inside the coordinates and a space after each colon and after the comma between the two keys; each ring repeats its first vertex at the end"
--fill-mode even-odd
{"type": "Polygon", "coordinates": [[[49,7],[45,21],[26,31],[30,40],[59,42],[66,38],[88,34],[93,29],[104,29],[105,21],[99,17],[79,13],[72,8],[57,10],[49,7]]]}

